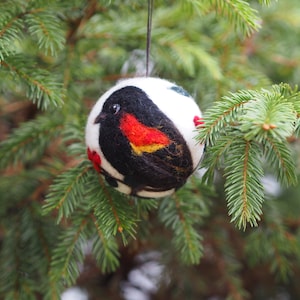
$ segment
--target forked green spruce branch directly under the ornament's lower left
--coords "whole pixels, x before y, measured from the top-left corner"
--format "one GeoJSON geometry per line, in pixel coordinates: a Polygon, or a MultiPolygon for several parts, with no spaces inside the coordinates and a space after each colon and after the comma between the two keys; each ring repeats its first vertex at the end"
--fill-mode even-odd
{"type": "Polygon", "coordinates": [[[61,222],[86,204],[94,212],[97,224],[106,237],[119,233],[125,244],[126,235],[135,237],[137,218],[128,197],[109,188],[87,160],[54,180],[44,213],[58,210],[57,221],[61,222]]]}

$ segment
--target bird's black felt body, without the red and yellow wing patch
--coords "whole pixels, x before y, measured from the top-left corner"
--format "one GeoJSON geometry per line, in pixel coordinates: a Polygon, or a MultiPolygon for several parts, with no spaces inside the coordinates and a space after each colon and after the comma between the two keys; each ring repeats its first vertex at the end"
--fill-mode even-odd
{"type": "Polygon", "coordinates": [[[181,187],[192,173],[190,150],[173,122],[163,114],[141,89],[128,86],[114,92],[97,117],[100,122],[99,144],[106,159],[124,175],[132,194],[139,190],[165,191],[181,187]],[[115,112],[113,106],[119,105],[115,112]],[[120,120],[131,114],[149,128],[157,128],[170,140],[154,152],[134,153],[120,128],[120,120]]]}

